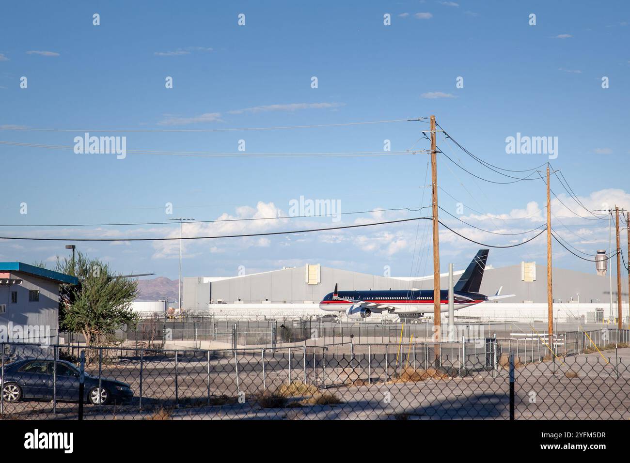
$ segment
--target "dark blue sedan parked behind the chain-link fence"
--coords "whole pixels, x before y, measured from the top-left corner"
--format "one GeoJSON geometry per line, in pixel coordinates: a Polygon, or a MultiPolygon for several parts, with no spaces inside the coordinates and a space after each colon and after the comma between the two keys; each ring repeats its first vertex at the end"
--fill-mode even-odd
{"type": "MultiPolygon", "coordinates": [[[[52,360],[18,360],[4,365],[1,383],[3,399],[14,403],[22,399],[53,399],[54,362],[52,360]]],[[[79,401],[79,369],[70,362],[57,360],[57,400],[79,401]]],[[[133,397],[129,384],[101,379],[99,394],[98,377],[86,374],[84,380],[85,403],[93,405],[120,403],[133,397]]]]}

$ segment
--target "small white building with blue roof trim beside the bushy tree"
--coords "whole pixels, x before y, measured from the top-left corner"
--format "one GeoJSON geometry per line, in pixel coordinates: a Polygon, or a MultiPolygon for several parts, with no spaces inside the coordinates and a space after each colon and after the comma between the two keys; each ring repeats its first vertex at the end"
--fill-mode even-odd
{"type": "Polygon", "coordinates": [[[59,342],[59,285],[71,275],[23,262],[0,262],[0,341],[59,342]]]}

